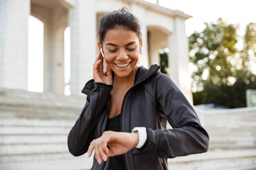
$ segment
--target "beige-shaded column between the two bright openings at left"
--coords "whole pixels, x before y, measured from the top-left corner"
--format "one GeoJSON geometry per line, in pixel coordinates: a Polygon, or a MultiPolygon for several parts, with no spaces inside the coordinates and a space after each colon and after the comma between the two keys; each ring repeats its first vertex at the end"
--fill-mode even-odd
{"type": "Polygon", "coordinates": [[[44,23],[44,92],[64,94],[64,30],[67,10],[45,9],[44,23]]]}

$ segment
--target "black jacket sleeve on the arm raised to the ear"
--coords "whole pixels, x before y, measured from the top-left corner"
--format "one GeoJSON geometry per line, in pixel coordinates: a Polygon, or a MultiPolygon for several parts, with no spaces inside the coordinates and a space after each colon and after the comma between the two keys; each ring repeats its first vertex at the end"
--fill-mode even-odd
{"type": "Polygon", "coordinates": [[[93,140],[94,130],[105,103],[112,90],[112,85],[95,83],[90,96],[87,96],[86,104],[79,115],[75,125],[67,137],[67,146],[74,156],[87,152],[90,142],[93,140]]]}

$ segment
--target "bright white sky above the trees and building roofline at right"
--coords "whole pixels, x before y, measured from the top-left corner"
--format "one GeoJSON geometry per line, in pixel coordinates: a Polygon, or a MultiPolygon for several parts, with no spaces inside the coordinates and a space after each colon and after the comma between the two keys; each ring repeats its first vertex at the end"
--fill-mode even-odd
{"type": "Polygon", "coordinates": [[[239,35],[244,35],[249,22],[256,22],[256,0],[159,0],[159,5],[192,16],[185,21],[187,36],[202,31],[205,28],[204,22],[213,22],[218,18],[228,24],[239,24],[239,35]]]}

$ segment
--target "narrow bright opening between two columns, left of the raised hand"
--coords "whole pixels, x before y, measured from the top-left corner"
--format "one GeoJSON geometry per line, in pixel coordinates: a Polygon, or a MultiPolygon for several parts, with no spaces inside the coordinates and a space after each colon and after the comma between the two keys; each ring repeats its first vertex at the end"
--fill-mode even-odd
{"type": "Polygon", "coordinates": [[[64,31],[64,81],[65,95],[70,95],[70,27],[64,31]]]}

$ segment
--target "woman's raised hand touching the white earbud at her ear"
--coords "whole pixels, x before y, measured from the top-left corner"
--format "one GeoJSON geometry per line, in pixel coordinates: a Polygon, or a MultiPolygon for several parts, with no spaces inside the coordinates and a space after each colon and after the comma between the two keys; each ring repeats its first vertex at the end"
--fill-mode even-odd
{"type": "Polygon", "coordinates": [[[96,83],[104,83],[107,85],[113,84],[112,70],[107,65],[107,76],[103,72],[103,57],[99,51],[96,60],[93,64],[93,79],[96,83]]]}

